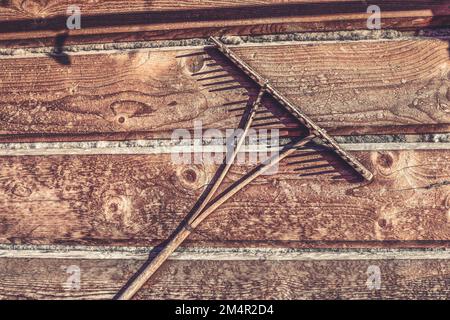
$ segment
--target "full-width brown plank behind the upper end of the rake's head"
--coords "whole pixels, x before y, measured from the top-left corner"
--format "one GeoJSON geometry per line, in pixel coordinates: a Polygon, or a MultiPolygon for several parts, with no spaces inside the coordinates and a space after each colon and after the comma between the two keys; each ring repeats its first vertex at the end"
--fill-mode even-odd
{"type": "MultiPolygon", "coordinates": [[[[450,130],[448,44],[441,40],[235,49],[333,134],[450,130]]],[[[235,128],[256,88],[214,49],[0,59],[0,140],[170,137],[235,128]],[[99,72],[99,70],[102,70],[99,72]]],[[[265,99],[256,128],[298,125],[265,99]]]]}

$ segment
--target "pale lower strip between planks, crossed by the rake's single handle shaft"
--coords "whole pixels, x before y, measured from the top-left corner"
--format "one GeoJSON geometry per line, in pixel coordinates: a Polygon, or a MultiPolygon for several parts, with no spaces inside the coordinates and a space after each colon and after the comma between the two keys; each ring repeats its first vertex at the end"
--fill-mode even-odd
{"type": "MultiPolygon", "coordinates": [[[[154,247],[66,245],[0,245],[0,258],[147,260],[154,247]]],[[[290,249],[290,248],[179,248],[170,260],[212,261],[325,261],[325,260],[444,260],[450,249],[290,249]]]]}

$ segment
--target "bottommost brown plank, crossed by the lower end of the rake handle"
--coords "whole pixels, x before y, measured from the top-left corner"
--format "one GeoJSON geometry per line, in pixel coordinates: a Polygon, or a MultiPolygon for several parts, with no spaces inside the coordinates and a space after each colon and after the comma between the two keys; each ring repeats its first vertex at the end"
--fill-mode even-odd
{"type": "MultiPolygon", "coordinates": [[[[0,259],[2,299],[111,299],[141,261],[0,259]],[[80,290],[66,272],[81,271],[80,290]]],[[[449,260],[169,261],[137,299],[448,299],[449,260]],[[381,271],[369,290],[367,268],[381,271]]]]}

